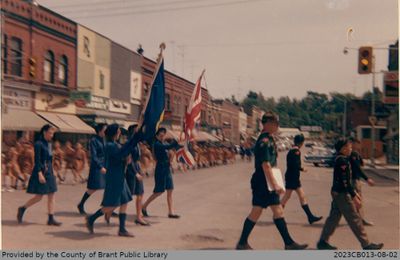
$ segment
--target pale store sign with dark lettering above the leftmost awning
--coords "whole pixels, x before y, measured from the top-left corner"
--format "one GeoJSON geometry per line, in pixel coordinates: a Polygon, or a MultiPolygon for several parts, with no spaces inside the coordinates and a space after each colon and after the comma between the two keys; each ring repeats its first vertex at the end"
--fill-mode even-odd
{"type": "Polygon", "coordinates": [[[7,108],[32,110],[32,97],[28,91],[4,88],[3,102],[7,108]]]}

